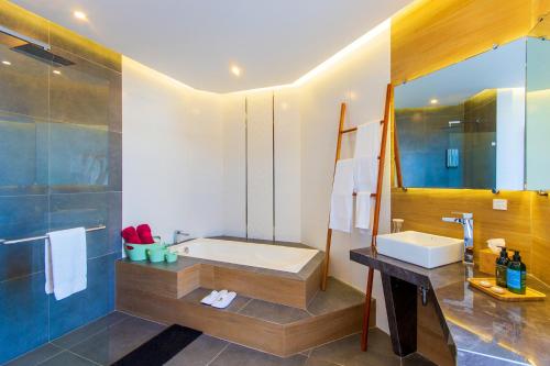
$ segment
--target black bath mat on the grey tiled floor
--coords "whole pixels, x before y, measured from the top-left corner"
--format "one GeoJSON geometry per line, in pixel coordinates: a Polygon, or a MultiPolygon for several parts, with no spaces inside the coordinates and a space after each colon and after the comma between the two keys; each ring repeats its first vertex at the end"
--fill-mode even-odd
{"type": "Polygon", "coordinates": [[[170,325],[111,366],[162,366],[200,334],[187,326],[170,325]]]}

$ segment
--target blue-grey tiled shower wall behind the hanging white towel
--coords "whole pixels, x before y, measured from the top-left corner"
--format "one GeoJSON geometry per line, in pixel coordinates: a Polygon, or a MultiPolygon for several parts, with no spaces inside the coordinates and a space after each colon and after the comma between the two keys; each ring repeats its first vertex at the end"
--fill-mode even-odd
{"type": "Polygon", "coordinates": [[[121,255],[120,62],[33,16],[22,24],[2,14],[0,24],[45,34],[75,65],[42,63],[0,42],[0,59],[11,63],[0,64],[0,237],[107,230],[87,234],[87,289],[61,301],[44,291],[44,241],[0,245],[0,364],[112,311],[121,255]]]}

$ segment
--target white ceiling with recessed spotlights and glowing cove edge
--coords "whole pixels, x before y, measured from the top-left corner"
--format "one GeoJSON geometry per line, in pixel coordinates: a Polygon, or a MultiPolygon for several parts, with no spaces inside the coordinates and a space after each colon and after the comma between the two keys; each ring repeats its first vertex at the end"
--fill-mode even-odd
{"type": "Polygon", "coordinates": [[[228,92],[298,79],[411,0],[13,2],[191,87],[228,92]]]}

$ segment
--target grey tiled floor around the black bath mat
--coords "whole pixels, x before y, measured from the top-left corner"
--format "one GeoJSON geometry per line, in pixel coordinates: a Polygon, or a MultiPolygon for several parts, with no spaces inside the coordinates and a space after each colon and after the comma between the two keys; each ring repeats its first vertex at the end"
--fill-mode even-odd
{"type": "MultiPolygon", "coordinates": [[[[286,317],[286,315],[285,315],[286,317]]],[[[7,366],[90,366],[109,365],[165,329],[165,325],[113,312],[96,322],[54,340],[7,366]]],[[[258,334],[261,336],[261,334],[258,334]]],[[[168,366],[431,366],[419,355],[400,359],[392,352],[389,337],[373,329],[370,351],[359,350],[354,334],[287,358],[279,358],[230,342],[201,335],[168,366]]]]}

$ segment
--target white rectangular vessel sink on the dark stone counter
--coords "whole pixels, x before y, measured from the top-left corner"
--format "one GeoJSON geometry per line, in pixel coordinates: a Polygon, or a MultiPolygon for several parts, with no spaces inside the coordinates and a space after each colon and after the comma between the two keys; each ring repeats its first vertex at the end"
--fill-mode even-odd
{"type": "Polygon", "coordinates": [[[395,234],[378,235],[376,247],[380,254],[388,257],[425,268],[435,268],[461,262],[464,241],[417,231],[404,231],[395,234]]]}

